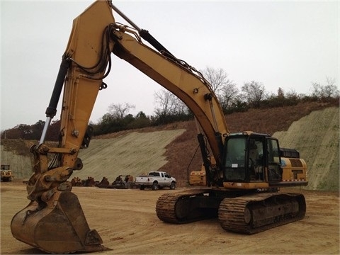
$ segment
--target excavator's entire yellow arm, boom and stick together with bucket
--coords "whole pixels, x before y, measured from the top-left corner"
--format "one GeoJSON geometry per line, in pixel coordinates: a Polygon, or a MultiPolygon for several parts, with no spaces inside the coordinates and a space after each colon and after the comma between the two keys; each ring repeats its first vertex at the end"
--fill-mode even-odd
{"type": "MultiPolygon", "coordinates": [[[[146,30],[115,23],[111,1],[96,1],[74,19],[67,49],[55,82],[39,145],[33,145],[34,174],[28,181],[30,203],[14,215],[13,237],[51,253],[101,251],[102,240],[86,222],[77,196],[67,181],[82,168],[79,149],[89,146],[91,111],[103,79],[111,69],[111,52],[157,81],[191,109],[220,164],[223,135],[228,134],[220,103],[208,81],[193,67],[176,59],[146,30]],[[147,38],[156,50],[142,42],[147,38]],[[58,147],[45,136],[62,98],[58,147]],[[54,155],[52,161],[50,155],[54,155]]],[[[203,156],[204,157],[204,156],[203,156]]],[[[203,159],[204,160],[204,159],[203,159]]],[[[217,176],[218,178],[218,176],[217,176]]]]}

